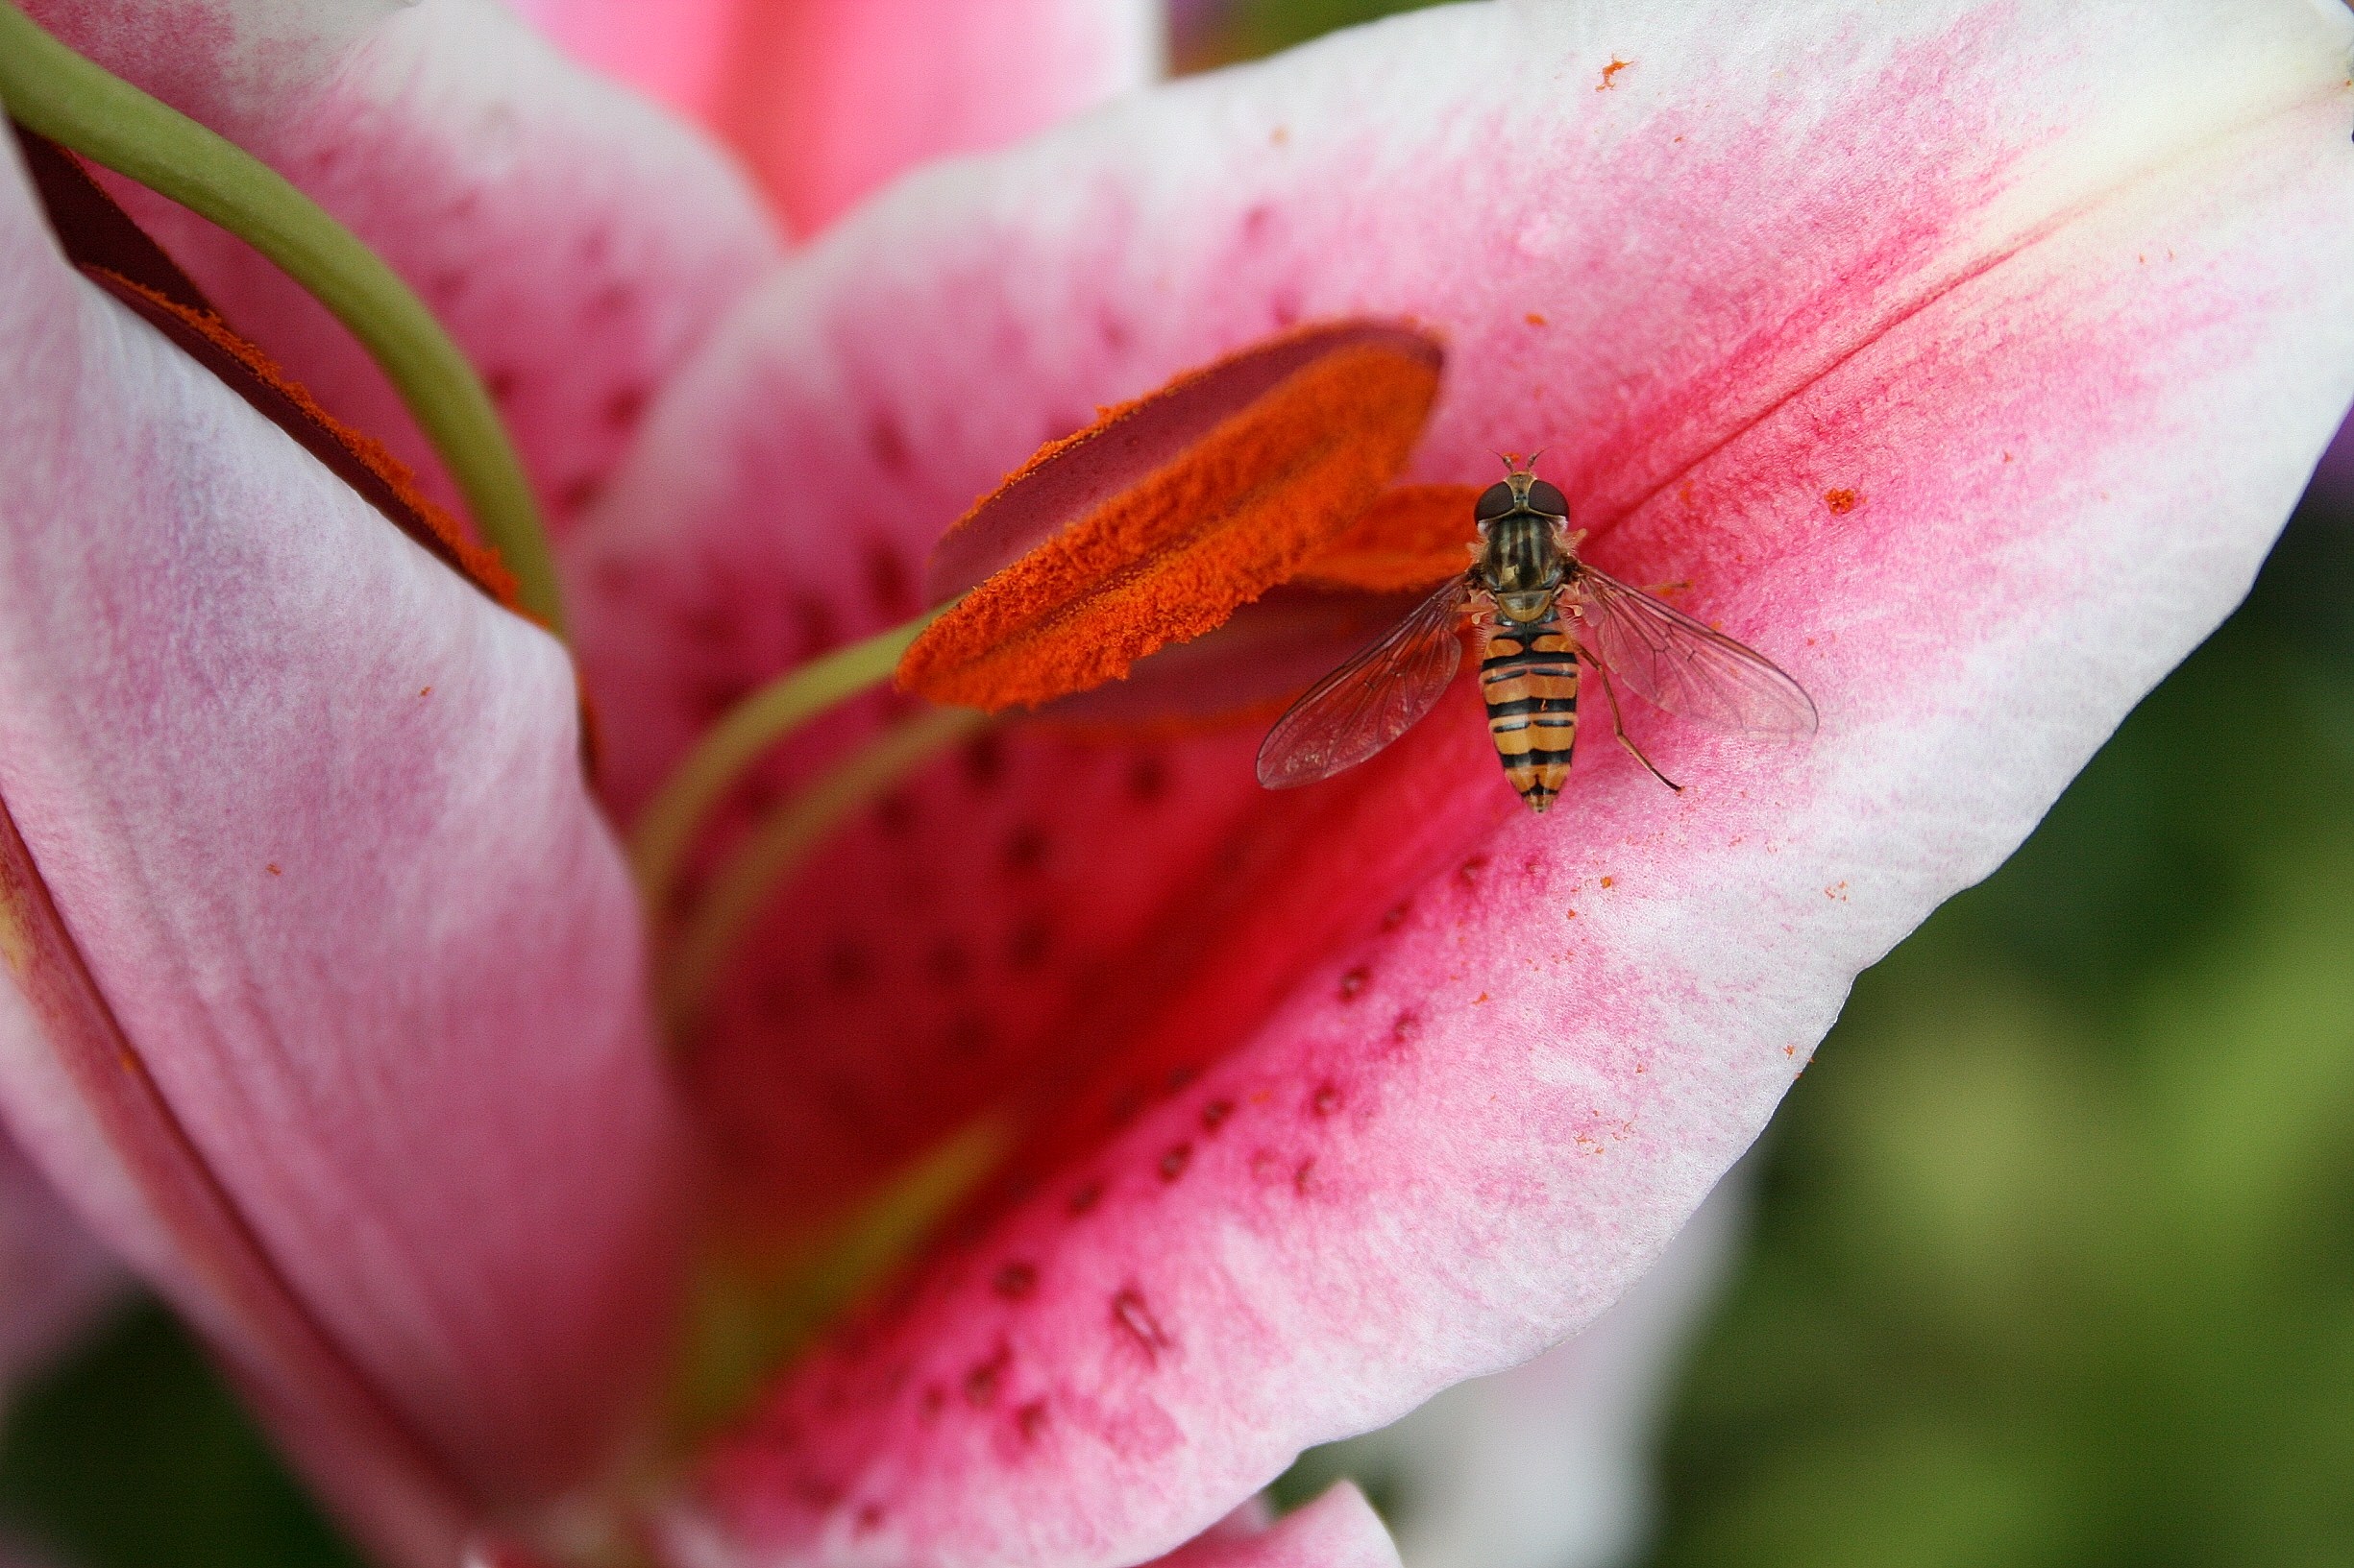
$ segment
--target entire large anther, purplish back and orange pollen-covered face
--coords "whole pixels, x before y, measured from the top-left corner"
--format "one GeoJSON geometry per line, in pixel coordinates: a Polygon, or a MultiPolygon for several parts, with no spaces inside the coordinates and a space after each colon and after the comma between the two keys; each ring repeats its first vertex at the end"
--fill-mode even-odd
{"type": "Polygon", "coordinates": [[[1405,327],[1314,327],[1050,444],[939,543],[935,595],[979,585],[906,651],[899,686],[996,712],[1201,637],[1365,515],[1438,364],[1405,327]]]}

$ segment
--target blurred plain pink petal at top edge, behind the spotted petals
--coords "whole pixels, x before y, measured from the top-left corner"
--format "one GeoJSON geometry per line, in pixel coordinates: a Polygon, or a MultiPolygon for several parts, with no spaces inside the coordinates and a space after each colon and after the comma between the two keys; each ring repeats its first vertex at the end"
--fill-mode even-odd
{"type": "Polygon", "coordinates": [[[525,0],[579,59],[701,120],[793,233],[932,158],[1161,73],[1161,0],[525,0]]]}

